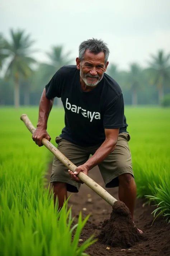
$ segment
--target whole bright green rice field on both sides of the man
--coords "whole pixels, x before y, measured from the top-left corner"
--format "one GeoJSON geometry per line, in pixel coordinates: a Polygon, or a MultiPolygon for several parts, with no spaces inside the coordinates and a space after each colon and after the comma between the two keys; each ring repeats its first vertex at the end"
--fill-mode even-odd
{"type": "MultiPolygon", "coordinates": [[[[92,236],[78,247],[88,217],[84,220],[80,213],[72,228],[74,216],[67,203],[59,213],[55,211],[53,198],[44,188],[53,155],[33,142],[20,120],[23,113],[36,127],[38,107],[0,108],[0,255],[85,255],[95,242],[92,236]]],[[[138,197],[154,200],[159,205],[154,216],[162,214],[170,221],[170,108],[126,107],[125,114],[138,197]]],[[[63,126],[63,109],[53,107],[47,131],[55,146],[63,126]]]]}

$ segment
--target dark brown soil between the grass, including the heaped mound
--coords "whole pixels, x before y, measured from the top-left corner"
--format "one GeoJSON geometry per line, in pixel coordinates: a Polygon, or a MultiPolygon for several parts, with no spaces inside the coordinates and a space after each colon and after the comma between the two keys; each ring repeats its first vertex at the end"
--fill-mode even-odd
{"type": "MultiPolygon", "coordinates": [[[[50,172],[51,166],[49,169],[49,173],[50,172]]],[[[89,176],[106,189],[97,167],[89,172],[89,176]]],[[[47,178],[49,178],[49,174],[47,178]]],[[[118,188],[106,190],[113,197],[118,199],[118,188]]],[[[70,196],[70,193],[68,193],[68,195],[70,196]]],[[[126,220],[128,219],[128,221],[125,223],[125,216],[123,214],[121,217],[119,214],[119,218],[117,218],[117,207],[113,210],[104,199],[100,198],[85,184],[81,185],[79,193],[73,193],[71,195],[69,206],[71,205],[72,216],[75,216],[75,221],[78,219],[80,211],[82,211],[83,218],[89,213],[91,214],[80,237],[83,240],[80,244],[92,234],[99,237],[99,240],[85,251],[90,256],[170,255],[170,224],[165,223],[165,220],[158,217],[152,225],[154,218],[153,215],[151,215],[151,212],[155,209],[155,206],[145,205],[144,200],[137,199],[134,211],[134,223],[137,228],[143,231],[142,236],[136,233],[137,230],[134,229],[134,226],[132,228],[131,219],[126,217],[126,220]],[[110,217],[112,221],[115,220],[111,225],[110,217]],[[120,225],[118,222],[120,222],[120,225]],[[122,232],[121,236],[120,232],[122,232]],[[129,233],[131,233],[130,237],[129,233]],[[107,247],[109,247],[109,250],[107,250],[107,247]]],[[[118,207],[118,210],[120,210],[120,207],[118,207]]]]}

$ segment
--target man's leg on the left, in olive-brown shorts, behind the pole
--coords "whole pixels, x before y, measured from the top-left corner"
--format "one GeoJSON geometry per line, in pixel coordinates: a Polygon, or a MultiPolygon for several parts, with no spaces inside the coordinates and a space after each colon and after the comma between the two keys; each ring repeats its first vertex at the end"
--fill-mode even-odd
{"type": "MultiPolygon", "coordinates": [[[[57,137],[56,143],[58,144],[57,149],[76,166],[84,164],[89,158],[89,154],[84,148],[70,143],[65,139],[57,137]]],[[[71,180],[68,168],[56,157],[53,160],[50,183],[52,183],[55,205],[56,200],[58,200],[58,210],[62,208],[63,203],[67,200],[67,191],[77,193],[81,185],[71,180]]]]}

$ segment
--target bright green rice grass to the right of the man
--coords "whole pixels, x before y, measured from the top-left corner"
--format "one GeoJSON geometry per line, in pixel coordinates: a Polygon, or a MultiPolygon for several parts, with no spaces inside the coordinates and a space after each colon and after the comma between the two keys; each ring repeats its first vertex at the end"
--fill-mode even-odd
{"type": "Polygon", "coordinates": [[[128,108],[126,115],[137,196],[158,205],[155,218],[170,221],[170,108],[128,108]]]}

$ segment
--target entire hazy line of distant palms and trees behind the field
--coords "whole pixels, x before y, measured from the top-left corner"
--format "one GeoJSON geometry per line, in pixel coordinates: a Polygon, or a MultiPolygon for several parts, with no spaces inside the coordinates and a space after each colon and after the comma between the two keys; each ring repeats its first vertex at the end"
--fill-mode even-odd
{"type": "MultiPolygon", "coordinates": [[[[24,30],[10,30],[10,40],[0,33],[0,105],[38,105],[42,90],[63,65],[75,64],[71,51],[53,46],[46,53],[49,62],[38,62],[32,56],[34,40],[24,30]]],[[[159,50],[150,56],[147,68],[131,63],[129,71],[119,70],[109,62],[108,75],[121,86],[126,105],[156,105],[170,95],[170,53],[159,50]]],[[[62,105],[61,99],[55,100],[62,105]]]]}

